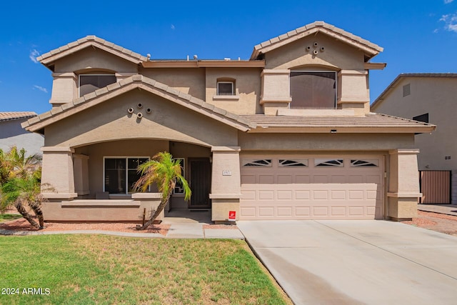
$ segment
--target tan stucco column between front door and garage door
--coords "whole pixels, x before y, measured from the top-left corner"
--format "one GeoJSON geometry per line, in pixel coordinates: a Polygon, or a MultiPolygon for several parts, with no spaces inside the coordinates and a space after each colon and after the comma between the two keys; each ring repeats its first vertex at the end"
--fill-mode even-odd
{"type": "Polygon", "coordinates": [[[211,172],[211,220],[229,220],[229,211],[236,211],[238,219],[241,199],[240,147],[213,146],[211,172]]]}

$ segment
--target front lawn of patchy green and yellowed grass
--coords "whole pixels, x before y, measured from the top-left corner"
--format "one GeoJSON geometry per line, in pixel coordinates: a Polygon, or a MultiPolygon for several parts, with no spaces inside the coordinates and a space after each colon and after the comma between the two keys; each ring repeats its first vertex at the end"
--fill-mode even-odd
{"type": "Polygon", "coordinates": [[[1,236],[0,274],[0,304],[291,304],[237,240],[1,236]]]}

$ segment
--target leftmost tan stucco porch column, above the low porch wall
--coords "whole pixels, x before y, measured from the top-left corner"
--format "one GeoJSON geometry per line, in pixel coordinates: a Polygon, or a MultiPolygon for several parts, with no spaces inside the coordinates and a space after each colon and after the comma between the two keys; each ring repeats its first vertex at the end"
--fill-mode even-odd
{"type": "Polygon", "coordinates": [[[47,199],[74,199],[74,149],[64,146],[44,146],[41,170],[41,194],[47,199]]]}

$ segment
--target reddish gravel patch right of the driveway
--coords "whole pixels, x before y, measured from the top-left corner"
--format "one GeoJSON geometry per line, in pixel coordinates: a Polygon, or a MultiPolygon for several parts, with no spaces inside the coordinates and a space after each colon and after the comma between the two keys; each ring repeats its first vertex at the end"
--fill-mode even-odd
{"type": "Polygon", "coordinates": [[[417,218],[413,218],[412,221],[402,222],[403,224],[411,224],[419,228],[457,236],[457,216],[418,211],[417,218]]]}

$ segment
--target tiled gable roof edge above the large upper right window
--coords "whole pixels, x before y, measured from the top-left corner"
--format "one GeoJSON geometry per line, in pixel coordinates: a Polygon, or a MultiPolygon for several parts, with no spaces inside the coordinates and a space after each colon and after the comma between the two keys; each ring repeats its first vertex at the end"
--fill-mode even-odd
{"type": "Polygon", "coordinates": [[[326,24],[323,21],[315,21],[312,24],[307,24],[306,26],[294,29],[293,31],[288,31],[286,34],[273,37],[272,39],[263,41],[261,44],[257,44],[254,46],[253,52],[251,54],[251,60],[258,59],[258,56],[261,54],[265,54],[268,51],[278,49],[281,46],[290,44],[291,42],[303,37],[317,34],[318,32],[332,36],[334,39],[343,41],[344,43],[354,46],[357,49],[361,49],[365,54],[367,60],[383,51],[381,46],[351,34],[348,31],[338,29],[336,26],[326,24]]]}

